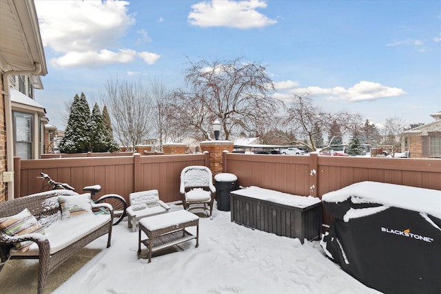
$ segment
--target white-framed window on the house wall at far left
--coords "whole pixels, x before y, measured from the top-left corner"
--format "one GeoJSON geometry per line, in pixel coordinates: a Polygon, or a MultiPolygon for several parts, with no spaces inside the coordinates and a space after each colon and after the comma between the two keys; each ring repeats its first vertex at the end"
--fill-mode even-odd
{"type": "Polygon", "coordinates": [[[14,112],[15,156],[32,159],[32,125],[34,116],[14,112]]]}

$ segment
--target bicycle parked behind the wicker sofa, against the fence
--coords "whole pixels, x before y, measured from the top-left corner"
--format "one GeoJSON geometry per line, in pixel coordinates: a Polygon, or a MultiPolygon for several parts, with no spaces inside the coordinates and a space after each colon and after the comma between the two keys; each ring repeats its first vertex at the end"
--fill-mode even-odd
{"type": "MultiPolygon", "coordinates": [[[[48,180],[48,185],[52,186],[52,190],[64,189],[64,190],[75,191],[74,187],[70,186],[69,184],[66,184],[65,182],[56,182],[52,180],[52,178],[50,178],[48,174],[40,173],[40,175],[41,176],[37,178],[41,178],[41,180],[43,180],[43,187],[41,188],[41,190],[43,190],[45,187],[44,180],[48,180]]],[[[101,191],[100,185],[84,187],[83,191],[89,192],[92,197],[92,201],[95,203],[108,203],[112,205],[113,213],[114,213],[113,225],[119,224],[121,220],[123,220],[123,218],[126,215],[125,209],[127,209],[127,202],[125,202],[124,198],[122,198],[118,194],[106,194],[95,200],[94,198],[95,193],[101,191]]]]}

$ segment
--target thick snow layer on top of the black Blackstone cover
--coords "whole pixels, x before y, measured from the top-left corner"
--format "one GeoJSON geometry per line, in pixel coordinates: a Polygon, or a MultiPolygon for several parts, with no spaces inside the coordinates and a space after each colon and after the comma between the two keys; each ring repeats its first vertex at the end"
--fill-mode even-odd
{"type": "Polygon", "coordinates": [[[378,203],[441,218],[441,191],[433,189],[365,181],[325,193],[322,201],[338,203],[349,198],[352,202],[378,203]]]}

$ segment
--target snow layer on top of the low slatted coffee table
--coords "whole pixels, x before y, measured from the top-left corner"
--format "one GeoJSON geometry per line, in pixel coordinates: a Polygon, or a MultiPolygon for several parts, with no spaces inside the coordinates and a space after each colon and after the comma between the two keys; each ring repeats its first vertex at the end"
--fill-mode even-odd
{"type": "Polygon", "coordinates": [[[149,218],[143,218],[139,222],[145,227],[145,229],[149,231],[156,231],[172,226],[178,226],[179,224],[198,219],[199,217],[194,213],[186,210],[180,210],[170,213],[163,213],[158,216],[150,216],[149,218]]]}

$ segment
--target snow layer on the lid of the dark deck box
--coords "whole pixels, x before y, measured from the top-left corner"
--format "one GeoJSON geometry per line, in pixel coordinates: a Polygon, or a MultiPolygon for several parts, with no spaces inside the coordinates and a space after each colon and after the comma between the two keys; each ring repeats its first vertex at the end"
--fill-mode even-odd
{"type": "Polygon", "coordinates": [[[270,189],[251,186],[246,189],[236,190],[233,193],[250,198],[266,200],[291,207],[305,208],[320,202],[320,198],[312,196],[298,196],[270,189]]]}

